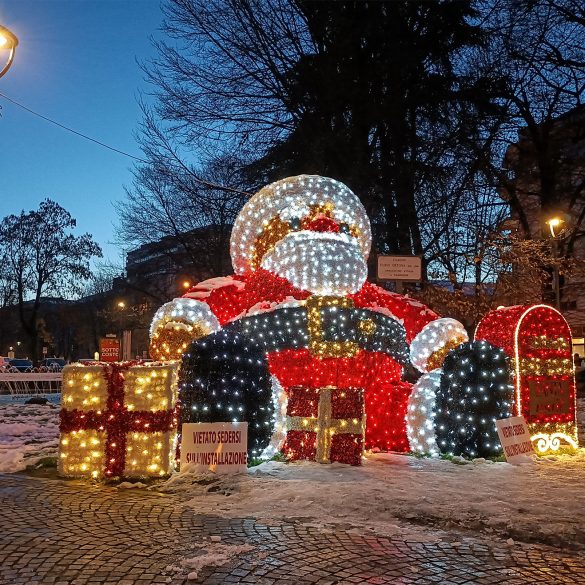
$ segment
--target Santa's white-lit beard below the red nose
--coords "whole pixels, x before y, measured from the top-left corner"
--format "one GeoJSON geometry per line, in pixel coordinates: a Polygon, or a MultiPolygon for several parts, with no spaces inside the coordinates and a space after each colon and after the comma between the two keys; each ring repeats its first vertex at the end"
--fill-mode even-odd
{"type": "Polygon", "coordinates": [[[346,234],[293,232],[267,252],[260,265],[317,295],[356,293],[368,275],[355,238],[346,234]]]}

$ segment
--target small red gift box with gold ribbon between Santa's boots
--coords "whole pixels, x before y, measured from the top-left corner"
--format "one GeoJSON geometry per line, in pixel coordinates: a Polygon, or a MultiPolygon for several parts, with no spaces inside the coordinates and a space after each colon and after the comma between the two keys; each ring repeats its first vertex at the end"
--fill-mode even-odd
{"type": "MultiPolygon", "coordinates": [[[[312,445],[303,445],[307,449],[303,449],[304,452],[299,453],[287,436],[289,444],[285,451],[288,451],[293,458],[311,459],[314,451],[316,461],[330,463],[334,437],[344,435],[355,444],[354,453],[348,453],[347,458],[342,455],[336,456],[334,460],[359,464],[365,430],[363,391],[358,388],[339,389],[328,386],[317,389],[291,388],[289,392],[287,433],[292,432],[291,437],[294,437],[294,433],[299,431],[304,436],[314,437],[314,442],[312,445]],[[305,394],[304,397],[303,394],[305,394]],[[318,399],[316,400],[317,395],[318,399]],[[314,416],[315,407],[317,407],[317,416],[314,416]],[[334,418],[340,411],[344,411],[347,418],[334,418]],[[307,416],[303,416],[303,412],[307,416]]],[[[311,439],[309,440],[311,441],[311,439]]]]}

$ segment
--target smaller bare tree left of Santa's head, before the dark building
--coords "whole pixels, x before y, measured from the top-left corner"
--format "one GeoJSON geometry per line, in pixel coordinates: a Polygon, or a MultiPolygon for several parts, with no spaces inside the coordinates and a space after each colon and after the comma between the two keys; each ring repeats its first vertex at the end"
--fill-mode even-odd
{"type": "MultiPolygon", "coordinates": [[[[146,136],[162,135],[154,124],[149,118],[146,136]]],[[[170,238],[174,245],[162,246],[161,251],[173,275],[180,270],[193,277],[225,273],[231,228],[246,200],[241,162],[227,155],[216,158],[195,178],[190,167],[169,169],[169,145],[161,142],[157,146],[151,141],[145,147],[153,164],[135,169],[127,198],[117,206],[119,244],[128,250],[130,245],[170,238]],[[207,183],[201,183],[200,176],[207,183]],[[231,188],[210,187],[210,183],[231,188]]],[[[143,292],[153,294],[153,290],[150,286],[143,292]]]]}

